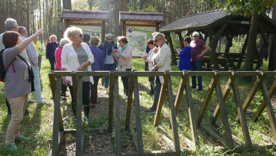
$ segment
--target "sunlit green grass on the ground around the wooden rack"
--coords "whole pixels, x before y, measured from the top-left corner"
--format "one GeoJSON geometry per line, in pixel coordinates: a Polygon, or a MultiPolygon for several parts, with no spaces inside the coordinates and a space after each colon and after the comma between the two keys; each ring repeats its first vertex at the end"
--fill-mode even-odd
{"type": "MultiPolygon", "coordinates": [[[[134,59],[133,70],[144,70],[144,61],[140,59],[134,59]]],[[[53,101],[52,94],[50,91],[49,79],[48,79],[48,71],[50,69],[48,60],[43,57],[42,65],[41,65],[41,88],[42,88],[42,97],[48,103],[48,105],[37,106],[36,104],[29,104],[28,110],[30,111],[30,115],[23,117],[23,121],[21,123],[21,133],[26,137],[31,137],[32,141],[26,144],[18,144],[19,153],[16,155],[48,155],[50,152],[50,141],[52,139],[52,125],[53,125],[53,101]]],[[[263,67],[266,68],[266,65],[263,67]]],[[[176,66],[172,66],[172,70],[177,70],[176,66]]],[[[203,77],[203,86],[204,90],[202,92],[193,91],[193,102],[195,106],[195,115],[197,117],[197,113],[199,112],[204,98],[206,96],[208,85],[210,83],[211,77],[204,76],[203,77]]],[[[274,79],[266,80],[267,86],[270,86],[270,83],[274,79]]],[[[180,77],[172,77],[172,90],[174,95],[176,95],[178,87],[179,87],[180,77]]],[[[220,80],[221,88],[224,89],[228,78],[225,77],[220,80]]],[[[255,81],[255,80],[254,80],[255,81]]],[[[239,84],[239,93],[244,101],[248,95],[250,88],[253,86],[253,82],[247,82],[243,79],[238,79],[237,84],[239,84]]],[[[100,83],[99,83],[100,84],[100,83]]],[[[119,90],[123,90],[121,81],[119,81],[119,90]]],[[[0,88],[3,88],[3,83],[0,84],[0,88]]],[[[141,110],[148,109],[153,101],[153,98],[147,94],[149,92],[150,85],[148,83],[147,77],[139,77],[139,98],[141,110]]],[[[102,86],[99,86],[99,92],[102,92],[102,86]]],[[[185,93],[184,93],[185,94],[185,93]]],[[[213,115],[213,110],[215,110],[215,106],[217,105],[217,97],[216,93],[213,93],[213,97],[210,99],[210,103],[208,106],[208,110],[204,114],[203,124],[209,124],[210,118],[213,115]]],[[[32,95],[30,98],[33,99],[32,95]]],[[[248,112],[246,113],[246,121],[250,131],[250,137],[252,139],[253,144],[261,144],[264,142],[262,139],[262,135],[267,135],[268,137],[273,137],[272,130],[270,128],[268,114],[266,110],[262,113],[259,121],[254,122],[252,119],[253,113],[257,110],[259,104],[263,101],[262,93],[257,92],[254,97],[250,107],[248,108],[248,112]]],[[[0,93],[0,155],[12,155],[5,150],[5,140],[6,140],[6,129],[8,126],[8,122],[10,118],[6,116],[6,105],[5,105],[5,97],[3,90],[0,93]]],[[[70,100],[67,100],[68,104],[64,104],[61,107],[61,112],[63,114],[63,123],[66,128],[75,128],[74,119],[72,115],[70,115],[70,100]],[[69,112],[69,113],[68,113],[69,112]]],[[[122,103],[121,107],[126,107],[126,103],[122,103]]],[[[233,92],[230,92],[228,95],[228,99],[226,99],[226,109],[228,113],[228,121],[230,123],[231,132],[233,135],[236,135],[239,138],[243,138],[242,128],[240,128],[239,124],[235,121],[235,116],[237,115],[237,108],[235,106],[235,101],[233,97],[233,92]]],[[[132,112],[135,109],[132,109],[132,112]]],[[[161,113],[160,126],[164,128],[166,133],[172,138],[172,130],[170,128],[170,115],[169,115],[169,103],[167,97],[164,101],[164,107],[161,113]]],[[[133,114],[133,113],[132,113],[133,114]]],[[[113,117],[114,119],[114,117],[113,117]]],[[[132,125],[135,124],[135,117],[132,116],[132,125]]],[[[153,126],[154,115],[148,115],[145,113],[141,113],[141,121],[142,121],[142,130],[143,130],[143,141],[144,141],[144,150],[161,150],[161,135],[157,131],[157,129],[153,126]]],[[[219,118],[218,123],[221,123],[221,119],[219,118]]],[[[125,112],[121,111],[121,126],[124,127],[125,123],[125,112]]],[[[181,106],[179,110],[179,115],[177,116],[177,124],[179,126],[179,139],[181,143],[181,148],[184,148],[186,144],[184,144],[185,137],[192,138],[192,134],[190,132],[190,122],[188,118],[188,111],[186,106],[186,96],[182,98],[181,106]]],[[[85,128],[106,128],[108,127],[108,112],[103,111],[98,113],[97,116],[93,117],[92,124],[84,124],[85,128]]],[[[211,126],[210,126],[211,127],[211,126]]],[[[223,130],[217,130],[221,132],[221,135],[224,135],[223,130]]],[[[123,133],[124,135],[124,133],[123,133]]],[[[182,153],[182,155],[276,155],[275,147],[266,148],[257,146],[255,148],[244,148],[242,150],[224,150],[219,148],[222,146],[215,142],[214,139],[211,139],[203,130],[199,130],[199,145],[200,147],[197,150],[190,151],[190,153],[182,153]]],[[[14,154],[15,155],[15,154],[14,154]]]]}

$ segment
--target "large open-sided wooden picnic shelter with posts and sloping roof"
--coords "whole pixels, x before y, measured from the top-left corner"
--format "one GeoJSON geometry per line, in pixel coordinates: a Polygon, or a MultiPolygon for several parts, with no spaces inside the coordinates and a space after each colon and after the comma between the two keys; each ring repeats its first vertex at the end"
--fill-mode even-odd
{"type": "MultiPolygon", "coordinates": [[[[182,32],[185,31],[184,35],[190,35],[193,33],[193,31],[197,31],[199,32],[201,39],[204,41],[206,41],[206,39],[209,37],[209,46],[211,48],[210,61],[213,62],[215,69],[219,69],[219,64],[224,64],[226,67],[235,66],[235,61],[238,63],[237,67],[234,68],[239,68],[242,64],[242,61],[244,60],[246,52],[250,20],[250,17],[227,14],[226,10],[220,9],[204,12],[201,14],[195,14],[189,17],[183,17],[168,24],[167,26],[164,26],[163,28],[160,28],[159,31],[166,34],[170,48],[172,50],[172,62],[174,64],[177,64],[177,59],[172,45],[170,32],[175,32],[179,36],[180,44],[183,45],[183,39],[181,37],[182,32]],[[229,50],[232,46],[233,37],[237,35],[246,35],[246,41],[244,42],[242,52],[231,54],[229,50]],[[224,53],[219,54],[215,50],[217,48],[217,43],[220,37],[226,37],[226,48],[224,53]],[[222,57],[218,57],[218,55],[221,55],[222,57]],[[221,58],[221,60],[218,58],[221,58]]],[[[259,18],[258,33],[260,33],[264,39],[264,46],[268,47],[268,35],[275,32],[276,23],[266,14],[261,14],[259,18]]]]}

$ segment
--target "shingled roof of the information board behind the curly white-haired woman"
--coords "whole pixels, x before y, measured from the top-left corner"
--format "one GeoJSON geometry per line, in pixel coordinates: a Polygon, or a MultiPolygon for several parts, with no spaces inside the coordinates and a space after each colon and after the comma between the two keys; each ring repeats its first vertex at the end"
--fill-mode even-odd
{"type": "Polygon", "coordinates": [[[108,11],[63,10],[61,18],[106,21],[108,19],[108,11]]]}

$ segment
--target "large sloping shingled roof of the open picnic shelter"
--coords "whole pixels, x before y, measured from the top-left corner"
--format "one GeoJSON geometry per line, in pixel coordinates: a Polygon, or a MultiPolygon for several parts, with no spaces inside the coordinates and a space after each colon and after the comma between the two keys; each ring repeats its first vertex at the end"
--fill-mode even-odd
{"type": "MultiPolygon", "coordinates": [[[[194,14],[188,17],[182,17],[159,29],[160,32],[181,32],[184,30],[218,30],[222,24],[228,23],[226,30],[233,34],[246,34],[250,28],[250,17],[227,14],[226,10],[219,9],[210,12],[194,14]]],[[[266,14],[261,14],[260,23],[264,24],[266,32],[275,32],[276,23],[266,14]]]]}

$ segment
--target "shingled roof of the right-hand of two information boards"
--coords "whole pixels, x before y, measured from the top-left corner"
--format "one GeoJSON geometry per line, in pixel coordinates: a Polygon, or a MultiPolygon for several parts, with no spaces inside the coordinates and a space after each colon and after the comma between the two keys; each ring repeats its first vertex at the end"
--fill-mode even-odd
{"type": "Polygon", "coordinates": [[[120,11],[120,21],[153,21],[160,23],[164,21],[162,13],[155,12],[124,12],[120,11]]]}

